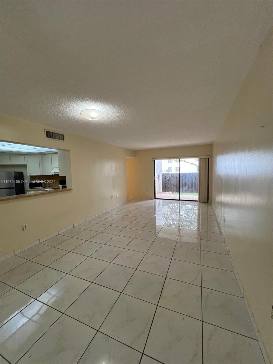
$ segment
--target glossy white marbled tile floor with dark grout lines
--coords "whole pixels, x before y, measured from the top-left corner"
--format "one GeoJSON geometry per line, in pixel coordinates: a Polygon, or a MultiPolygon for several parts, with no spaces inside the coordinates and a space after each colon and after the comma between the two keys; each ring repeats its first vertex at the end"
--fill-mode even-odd
{"type": "Polygon", "coordinates": [[[264,364],[209,204],[129,200],[0,274],[0,364],[264,364]]]}

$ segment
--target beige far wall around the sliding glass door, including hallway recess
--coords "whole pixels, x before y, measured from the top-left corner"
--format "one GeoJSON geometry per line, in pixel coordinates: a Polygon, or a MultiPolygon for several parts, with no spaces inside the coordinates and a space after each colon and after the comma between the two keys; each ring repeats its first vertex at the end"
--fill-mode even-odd
{"type": "MultiPolygon", "coordinates": [[[[187,147],[160,148],[136,150],[135,158],[127,158],[127,170],[131,175],[127,176],[128,197],[154,198],[154,161],[153,158],[171,157],[212,157],[212,145],[193,145],[187,147]]],[[[209,159],[209,180],[212,179],[212,158],[209,159]]],[[[211,196],[211,183],[209,185],[209,198],[211,196]]]]}

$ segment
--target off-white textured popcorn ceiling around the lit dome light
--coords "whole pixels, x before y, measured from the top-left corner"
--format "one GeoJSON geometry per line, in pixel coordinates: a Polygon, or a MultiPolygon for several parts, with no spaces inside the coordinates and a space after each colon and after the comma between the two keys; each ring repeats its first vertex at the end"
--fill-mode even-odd
{"type": "Polygon", "coordinates": [[[213,142],[270,4],[3,0],[0,111],[130,149],[213,142]]]}

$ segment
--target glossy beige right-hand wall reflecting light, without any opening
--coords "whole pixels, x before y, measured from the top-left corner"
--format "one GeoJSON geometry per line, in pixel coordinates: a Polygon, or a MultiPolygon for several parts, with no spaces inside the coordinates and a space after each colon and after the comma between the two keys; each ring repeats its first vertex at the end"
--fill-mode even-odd
{"type": "Polygon", "coordinates": [[[273,363],[272,56],[273,31],[214,142],[213,204],[273,363]]]}

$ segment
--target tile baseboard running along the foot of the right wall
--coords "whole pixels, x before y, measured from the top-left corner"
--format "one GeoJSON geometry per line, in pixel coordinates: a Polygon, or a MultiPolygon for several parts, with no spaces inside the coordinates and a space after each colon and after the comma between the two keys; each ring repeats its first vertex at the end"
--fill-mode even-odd
{"type": "Polygon", "coordinates": [[[261,349],[261,352],[262,352],[262,356],[264,357],[265,364],[271,364],[271,361],[270,361],[269,356],[268,356],[268,354],[267,354],[267,352],[266,352],[266,349],[265,349],[264,342],[262,341],[261,334],[260,334],[260,331],[259,331],[259,329],[258,329],[258,325],[257,325],[257,323],[256,323],[256,321],[255,321],[255,318],[254,318],[253,312],[252,312],[252,310],[251,310],[251,308],[250,308],[250,305],[249,305],[248,299],[247,299],[247,297],[246,297],[245,290],[244,290],[244,286],[242,285],[242,282],[241,282],[241,280],[240,280],[239,274],[238,274],[238,272],[237,272],[236,266],[235,266],[234,261],[233,261],[233,258],[232,258],[232,254],[231,254],[231,252],[230,252],[230,250],[229,250],[229,246],[228,246],[228,244],[227,244],[227,240],[226,240],[226,238],[225,238],[225,234],[223,233],[222,226],[221,226],[221,223],[220,223],[219,218],[218,218],[218,216],[217,216],[217,213],[216,213],[216,210],[215,210],[214,204],[213,204],[213,203],[211,203],[211,206],[212,206],[213,211],[214,211],[214,213],[215,213],[215,216],[216,216],[216,218],[217,218],[217,222],[219,223],[219,227],[220,227],[220,229],[221,229],[221,233],[223,234],[223,237],[224,237],[224,243],[225,243],[225,246],[226,246],[226,250],[227,250],[227,253],[228,253],[228,255],[229,255],[230,262],[231,262],[231,264],[232,264],[232,268],[233,268],[233,270],[234,270],[234,274],[235,274],[235,276],[236,276],[236,279],[237,279],[237,282],[238,282],[239,288],[240,288],[240,290],[241,290],[241,292],[242,292],[242,295],[243,295],[243,298],[244,298],[244,301],[245,301],[245,305],[246,305],[246,308],[247,308],[248,313],[249,313],[250,320],[251,320],[252,325],[253,325],[253,328],[254,328],[254,330],[255,330],[255,332],[256,332],[256,335],[257,335],[257,341],[258,341],[258,343],[259,343],[259,345],[260,345],[260,349],[261,349]]]}

